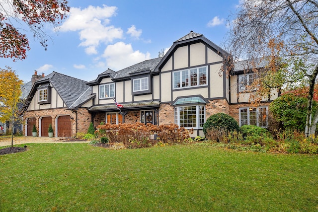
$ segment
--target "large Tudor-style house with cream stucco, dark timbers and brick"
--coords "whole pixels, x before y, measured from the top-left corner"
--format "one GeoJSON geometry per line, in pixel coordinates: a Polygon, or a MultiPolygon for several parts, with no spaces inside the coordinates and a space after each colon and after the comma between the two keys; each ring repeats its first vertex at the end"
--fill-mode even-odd
{"type": "MultiPolygon", "coordinates": [[[[175,123],[193,129],[191,136],[195,137],[204,136],[206,119],[219,112],[233,116],[240,125],[274,126],[268,105],[278,93],[273,91],[259,107],[251,107],[248,96],[253,91],[246,85],[256,75],[248,61],[237,62],[234,69],[228,70],[231,60],[229,53],[191,31],[175,41],[164,57],[120,71],[108,69],[90,82],[53,72],[32,87],[24,116],[26,129],[36,123],[42,132],[48,119],[55,136],[60,137],[87,132],[89,122],[95,127],[101,122],[175,123]],[[117,107],[115,101],[122,107],[117,107]],[[63,135],[64,125],[69,130],[63,135]]],[[[27,130],[25,135],[30,135],[27,130]]]]}

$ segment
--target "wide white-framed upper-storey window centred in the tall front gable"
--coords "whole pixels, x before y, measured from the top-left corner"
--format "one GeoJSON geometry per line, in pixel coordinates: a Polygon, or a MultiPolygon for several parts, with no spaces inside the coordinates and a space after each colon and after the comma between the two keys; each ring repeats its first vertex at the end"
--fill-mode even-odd
{"type": "Polygon", "coordinates": [[[207,67],[173,71],[173,89],[207,85],[207,67]]]}

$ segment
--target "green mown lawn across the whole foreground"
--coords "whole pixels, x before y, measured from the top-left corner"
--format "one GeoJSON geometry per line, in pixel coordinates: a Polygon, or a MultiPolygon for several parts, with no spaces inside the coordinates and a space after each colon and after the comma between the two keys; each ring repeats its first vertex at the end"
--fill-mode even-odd
{"type": "Polygon", "coordinates": [[[0,155],[0,212],[318,211],[318,155],[203,144],[28,144],[0,155]]]}

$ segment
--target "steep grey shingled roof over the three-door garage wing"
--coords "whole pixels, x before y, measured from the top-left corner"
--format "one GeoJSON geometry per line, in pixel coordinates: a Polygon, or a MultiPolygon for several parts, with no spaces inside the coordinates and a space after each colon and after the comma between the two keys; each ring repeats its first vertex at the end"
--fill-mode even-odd
{"type": "Polygon", "coordinates": [[[71,106],[75,102],[78,102],[78,104],[76,104],[76,107],[79,107],[79,103],[86,102],[84,98],[91,98],[91,96],[87,95],[87,90],[88,88],[90,88],[90,86],[86,84],[87,81],[55,71],[37,80],[34,83],[29,97],[32,97],[34,95],[36,88],[39,85],[48,82],[51,83],[52,86],[56,89],[57,93],[61,96],[62,100],[68,108],[71,108],[71,106]],[[83,96],[84,93],[86,93],[85,96],[83,96]]]}

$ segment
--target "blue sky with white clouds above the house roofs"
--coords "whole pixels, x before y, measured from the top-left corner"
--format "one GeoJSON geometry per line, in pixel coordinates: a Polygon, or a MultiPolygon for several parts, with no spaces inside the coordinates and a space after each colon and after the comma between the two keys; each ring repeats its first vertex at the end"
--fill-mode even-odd
{"type": "Polygon", "coordinates": [[[121,70],[157,58],[161,49],[191,30],[222,46],[227,18],[239,0],[69,0],[71,11],[51,37],[47,51],[28,35],[27,59],[0,59],[25,82],[35,70],[57,71],[86,81],[109,69],[121,70]]]}

